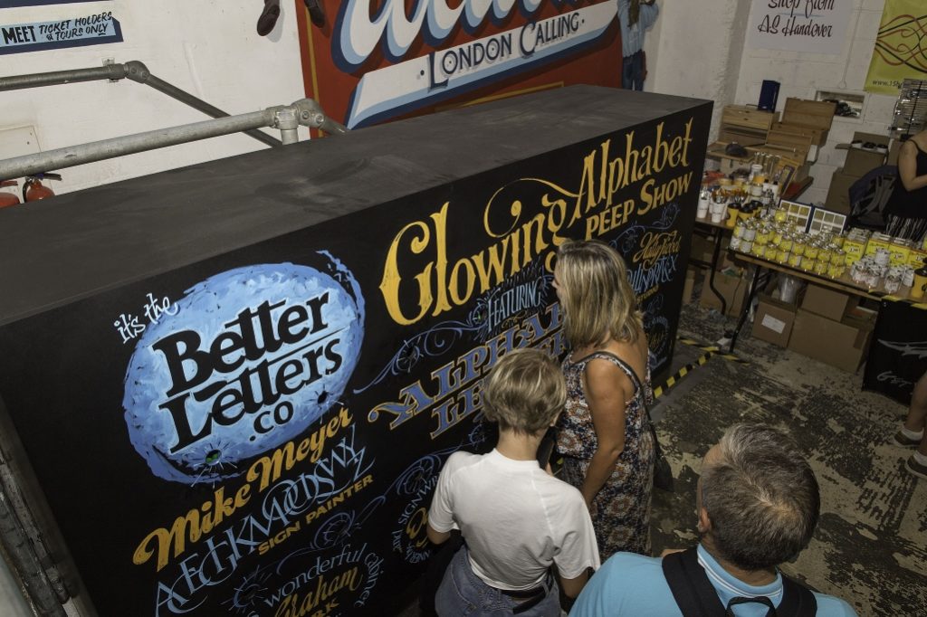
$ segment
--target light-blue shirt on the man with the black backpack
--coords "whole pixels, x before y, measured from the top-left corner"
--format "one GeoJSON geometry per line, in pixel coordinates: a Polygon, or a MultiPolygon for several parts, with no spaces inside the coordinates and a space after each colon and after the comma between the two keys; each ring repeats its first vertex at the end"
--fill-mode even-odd
{"type": "MultiPolygon", "coordinates": [[[[698,561],[705,568],[708,580],[715,586],[721,604],[727,606],[730,598],[766,596],[773,606],[782,600],[782,577],[769,585],[750,586],[731,576],[718,565],[715,558],[700,544],[698,561]]],[[[821,617],[855,616],[857,613],[840,598],[815,593],[818,614],[821,617]]],[[[762,604],[739,604],[734,608],[737,617],[763,617],[767,608],[762,604]]],[[[603,563],[579,594],[570,617],[609,617],[629,615],[640,617],[682,617],[682,611],[673,599],[667,578],[663,575],[663,560],[635,553],[616,553],[603,563]]]]}

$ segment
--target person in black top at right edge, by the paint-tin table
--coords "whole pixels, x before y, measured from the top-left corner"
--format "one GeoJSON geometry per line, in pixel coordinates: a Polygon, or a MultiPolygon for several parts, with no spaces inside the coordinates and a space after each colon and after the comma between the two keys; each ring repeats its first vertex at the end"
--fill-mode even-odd
{"type": "Polygon", "coordinates": [[[898,178],[885,206],[885,233],[919,243],[927,235],[927,131],[901,145],[898,178]]]}

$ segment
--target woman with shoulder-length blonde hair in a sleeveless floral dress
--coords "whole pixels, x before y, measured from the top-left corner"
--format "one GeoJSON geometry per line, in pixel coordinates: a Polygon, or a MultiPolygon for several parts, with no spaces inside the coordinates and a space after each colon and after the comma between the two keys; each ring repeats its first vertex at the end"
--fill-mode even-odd
{"type": "Polygon", "coordinates": [[[649,555],[654,440],[645,404],[653,391],[628,268],[602,242],[568,242],[553,287],[572,346],[557,435],[562,477],[589,506],[603,560],[621,550],[649,555]]]}

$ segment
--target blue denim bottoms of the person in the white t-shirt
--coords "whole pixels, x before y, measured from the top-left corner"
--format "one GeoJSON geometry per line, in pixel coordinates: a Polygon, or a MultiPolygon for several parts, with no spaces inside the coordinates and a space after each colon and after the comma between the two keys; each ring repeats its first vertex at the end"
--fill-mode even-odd
{"type": "MultiPolygon", "coordinates": [[[[538,604],[517,614],[524,617],[560,617],[560,592],[549,574],[543,583],[546,595],[538,604]]],[[[435,608],[440,617],[512,615],[527,598],[514,598],[483,582],[470,567],[466,547],[457,551],[444,573],[435,608]]]]}

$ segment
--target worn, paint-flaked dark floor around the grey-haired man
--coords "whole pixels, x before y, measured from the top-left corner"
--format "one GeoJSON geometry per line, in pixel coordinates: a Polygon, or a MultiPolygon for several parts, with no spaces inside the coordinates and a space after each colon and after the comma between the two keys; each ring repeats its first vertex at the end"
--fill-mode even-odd
{"type": "MultiPolygon", "coordinates": [[[[695,305],[683,307],[679,323],[681,336],[705,344],[734,325],[695,305]]],[[[904,472],[910,450],[888,444],[907,409],[862,392],[861,371],[757,341],[749,329],[735,349],[748,363],[712,356],[698,365],[704,349],[676,346],[670,374],[695,368],[652,410],[677,478],[673,494],[654,492],[654,554],[696,541],[694,487],[707,448],[730,423],[768,422],[803,447],[822,493],[815,539],[783,570],[860,615],[927,615],[927,482],[904,472]]],[[[413,603],[401,615],[419,611],[413,603]]]]}

